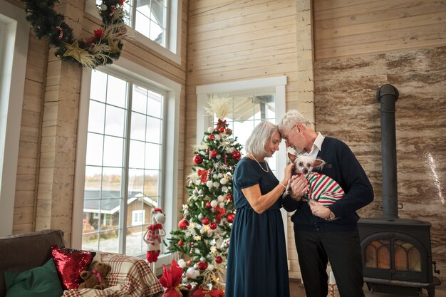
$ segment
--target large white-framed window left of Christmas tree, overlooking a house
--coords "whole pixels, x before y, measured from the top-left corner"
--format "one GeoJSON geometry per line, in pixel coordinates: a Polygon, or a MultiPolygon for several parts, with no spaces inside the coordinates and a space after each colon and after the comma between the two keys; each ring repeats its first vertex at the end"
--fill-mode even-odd
{"type": "Polygon", "coordinates": [[[176,222],[180,85],[122,57],[84,74],[73,246],[142,256],[152,209],[176,222]]]}

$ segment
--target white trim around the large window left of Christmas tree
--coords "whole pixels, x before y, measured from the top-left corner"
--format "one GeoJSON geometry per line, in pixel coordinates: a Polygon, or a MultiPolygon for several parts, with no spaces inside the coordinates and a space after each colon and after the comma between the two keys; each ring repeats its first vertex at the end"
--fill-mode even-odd
{"type": "MultiPolygon", "coordinates": [[[[164,168],[164,205],[162,211],[166,215],[163,225],[167,234],[175,229],[177,222],[177,194],[178,194],[178,137],[180,135],[180,92],[181,85],[173,80],[143,68],[126,58],[119,58],[115,63],[99,67],[98,70],[111,70],[121,75],[128,75],[135,80],[145,81],[167,90],[165,100],[165,168],[164,168]]],[[[73,226],[71,234],[71,246],[81,249],[82,246],[82,219],[83,219],[83,189],[85,183],[85,158],[87,148],[88,129],[88,105],[90,103],[90,79],[91,69],[84,68],[81,83],[81,103],[79,104],[78,147],[76,150],[76,174],[74,179],[73,199],[73,226]]],[[[172,254],[162,254],[156,262],[157,267],[162,264],[170,264],[172,254]]]]}

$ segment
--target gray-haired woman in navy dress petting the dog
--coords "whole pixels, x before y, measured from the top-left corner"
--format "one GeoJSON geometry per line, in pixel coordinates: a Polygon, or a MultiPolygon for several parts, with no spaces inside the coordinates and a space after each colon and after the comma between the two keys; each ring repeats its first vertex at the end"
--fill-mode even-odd
{"type": "Polygon", "coordinates": [[[293,164],[282,182],[264,160],[279,150],[278,127],[264,121],[254,127],[245,145],[247,156],[234,171],[234,204],[225,297],[289,296],[288,266],[281,195],[293,164]]]}

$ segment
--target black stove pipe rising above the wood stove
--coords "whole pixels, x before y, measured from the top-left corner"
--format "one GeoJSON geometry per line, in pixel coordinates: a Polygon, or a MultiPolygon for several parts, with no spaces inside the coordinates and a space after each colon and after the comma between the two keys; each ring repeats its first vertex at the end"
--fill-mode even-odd
{"type": "Polygon", "coordinates": [[[381,103],[383,217],[389,220],[398,219],[395,127],[395,102],[398,95],[393,85],[382,85],[376,91],[376,99],[381,103]]]}

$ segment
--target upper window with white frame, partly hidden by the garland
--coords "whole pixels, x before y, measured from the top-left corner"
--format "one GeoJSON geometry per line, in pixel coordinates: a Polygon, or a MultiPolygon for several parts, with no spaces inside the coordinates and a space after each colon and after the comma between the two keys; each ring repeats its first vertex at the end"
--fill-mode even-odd
{"type": "MultiPolygon", "coordinates": [[[[100,19],[101,0],[87,0],[85,11],[100,19]]],[[[181,63],[181,0],[128,0],[124,3],[130,19],[130,35],[157,53],[181,63]]]]}

